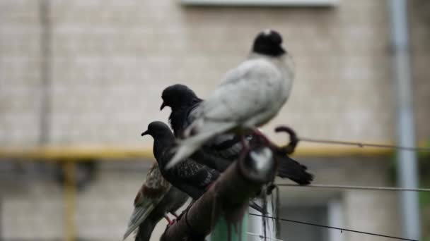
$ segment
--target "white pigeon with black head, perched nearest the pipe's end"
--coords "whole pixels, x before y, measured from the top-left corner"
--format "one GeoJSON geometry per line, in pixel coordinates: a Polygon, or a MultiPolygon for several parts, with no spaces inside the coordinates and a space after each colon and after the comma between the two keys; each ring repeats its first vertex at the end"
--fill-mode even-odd
{"type": "Polygon", "coordinates": [[[209,98],[195,109],[195,119],[178,141],[166,168],[193,154],[212,137],[246,132],[277,115],[291,92],[294,61],[282,48],[282,37],[263,30],[255,37],[250,56],[228,71],[209,98]]]}

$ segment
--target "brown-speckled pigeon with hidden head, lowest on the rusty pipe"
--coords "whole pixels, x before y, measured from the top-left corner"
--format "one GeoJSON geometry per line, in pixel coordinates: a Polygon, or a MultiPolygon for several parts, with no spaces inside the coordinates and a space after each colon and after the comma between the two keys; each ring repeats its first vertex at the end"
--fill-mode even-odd
{"type": "Polygon", "coordinates": [[[184,205],[187,199],[188,195],[170,185],[161,175],[158,164],[153,163],[134,199],[134,210],[124,233],[124,240],[138,228],[135,240],[149,241],[157,223],[163,217],[170,223],[167,214],[177,216],[175,211],[184,205]]]}

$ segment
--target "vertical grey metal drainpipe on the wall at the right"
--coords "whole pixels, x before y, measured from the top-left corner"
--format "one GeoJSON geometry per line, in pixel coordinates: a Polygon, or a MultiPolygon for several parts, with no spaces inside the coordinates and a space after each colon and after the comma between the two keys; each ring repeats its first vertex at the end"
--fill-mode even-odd
{"type": "MultiPolygon", "coordinates": [[[[409,54],[407,1],[388,0],[390,11],[392,71],[397,102],[397,144],[415,147],[414,111],[412,109],[412,70],[409,54]]],[[[417,154],[397,151],[397,176],[400,187],[417,188],[417,154]]],[[[401,192],[402,233],[404,237],[419,240],[419,202],[417,192],[401,192]]]]}

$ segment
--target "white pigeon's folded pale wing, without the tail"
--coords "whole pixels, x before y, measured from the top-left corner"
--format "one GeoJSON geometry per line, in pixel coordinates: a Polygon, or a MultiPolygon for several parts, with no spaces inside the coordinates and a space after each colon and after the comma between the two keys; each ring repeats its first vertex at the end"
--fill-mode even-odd
{"type": "MultiPolygon", "coordinates": [[[[267,109],[282,75],[264,58],[250,59],[226,74],[221,85],[197,107],[207,121],[243,122],[267,109]]],[[[206,122],[206,121],[205,121],[206,122]]]]}

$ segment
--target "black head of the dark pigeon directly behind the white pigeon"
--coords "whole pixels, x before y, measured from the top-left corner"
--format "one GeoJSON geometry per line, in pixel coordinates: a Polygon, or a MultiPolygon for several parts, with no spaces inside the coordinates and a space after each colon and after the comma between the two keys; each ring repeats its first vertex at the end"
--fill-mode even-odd
{"type": "Polygon", "coordinates": [[[160,109],[162,110],[165,106],[169,106],[172,110],[179,109],[182,106],[193,105],[199,101],[202,101],[197,95],[187,87],[186,85],[170,85],[163,90],[161,94],[163,104],[160,109]]]}

